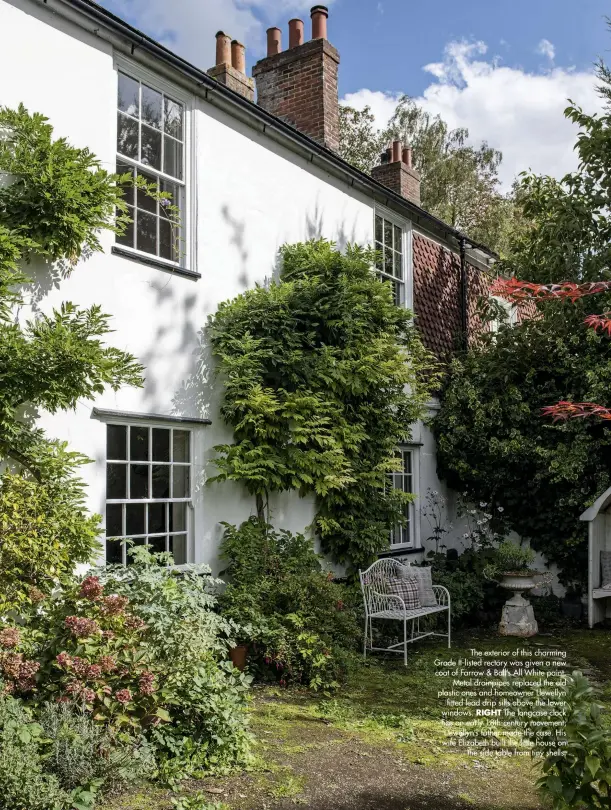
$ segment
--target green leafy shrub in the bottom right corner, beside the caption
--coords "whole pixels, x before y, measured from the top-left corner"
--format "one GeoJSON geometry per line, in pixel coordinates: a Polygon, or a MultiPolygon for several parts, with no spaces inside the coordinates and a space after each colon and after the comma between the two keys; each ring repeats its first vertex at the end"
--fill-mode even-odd
{"type": "Polygon", "coordinates": [[[567,684],[566,747],[543,763],[538,782],[554,810],[611,806],[611,734],[609,717],[595,699],[594,688],[581,672],[567,684]]]}

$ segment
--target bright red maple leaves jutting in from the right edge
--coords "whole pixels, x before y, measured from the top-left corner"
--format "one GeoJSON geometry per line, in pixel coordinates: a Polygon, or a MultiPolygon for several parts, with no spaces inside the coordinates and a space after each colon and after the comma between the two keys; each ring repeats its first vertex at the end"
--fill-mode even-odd
{"type": "MultiPolygon", "coordinates": [[[[530,281],[518,281],[517,278],[497,278],[490,285],[490,294],[504,298],[512,304],[523,301],[551,301],[567,299],[575,303],[586,295],[596,295],[611,290],[611,281],[590,281],[576,284],[563,281],[560,284],[534,284],[530,281]]],[[[611,312],[602,315],[588,315],[584,323],[596,332],[607,333],[611,337],[611,312]]],[[[611,409],[595,402],[569,402],[561,400],[556,405],[547,405],[541,409],[544,416],[553,417],[554,422],[566,419],[583,419],[597,416],[599,419],[611,420],[611,409]]]]}

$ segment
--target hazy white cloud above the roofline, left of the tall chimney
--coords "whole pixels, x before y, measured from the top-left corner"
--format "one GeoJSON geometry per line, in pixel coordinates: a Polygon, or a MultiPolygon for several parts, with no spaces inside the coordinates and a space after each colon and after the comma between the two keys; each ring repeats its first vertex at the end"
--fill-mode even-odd
{"type": "Polygon", "coordinates": [[[214,65],[217,31],[239,39],[252,56],[261,57],[265,29],[277,25],[288,36],[293,14],[302,16],[307,28],[313,5],[311,0],[103,0],[103,4],[203,69],[214,65]]]}

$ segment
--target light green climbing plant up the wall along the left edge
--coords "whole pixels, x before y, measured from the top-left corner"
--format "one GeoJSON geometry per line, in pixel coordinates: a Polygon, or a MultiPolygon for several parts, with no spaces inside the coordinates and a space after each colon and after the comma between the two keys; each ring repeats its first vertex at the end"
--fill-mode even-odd
{"type": "Polygon", "coordinates": [[[38,278],[61,278],[101,250],[101,230],[125,226],[125,181],[89,150],[54,139],[44,116],[0,108],[0,614],[48,590],[95,547],[99,520],[86,513],[75,474],[87,459],[36,427],[36,416],[140,385],[142,368],[104,343],[110,324],[98,306],[30,309],[29,320],[23,311],[34,268],[38,278]]]}

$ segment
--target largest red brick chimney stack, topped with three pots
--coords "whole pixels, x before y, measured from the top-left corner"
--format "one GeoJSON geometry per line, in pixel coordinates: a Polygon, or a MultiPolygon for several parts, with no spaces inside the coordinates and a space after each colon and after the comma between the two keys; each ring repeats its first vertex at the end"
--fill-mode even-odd
{"type": "Polygon", "coordinates": [[[289,22],[289,47],[283,51],[280,31],[268,31],[267,57],[253,68],[257,102],[326,146],[339,149],[339,53],[327,40],[325,6],[314,6],[312,39],[304,42],[301,20],[289,22]]]}

